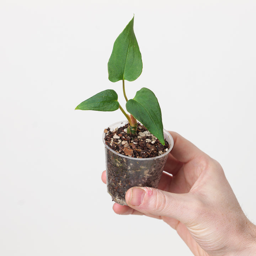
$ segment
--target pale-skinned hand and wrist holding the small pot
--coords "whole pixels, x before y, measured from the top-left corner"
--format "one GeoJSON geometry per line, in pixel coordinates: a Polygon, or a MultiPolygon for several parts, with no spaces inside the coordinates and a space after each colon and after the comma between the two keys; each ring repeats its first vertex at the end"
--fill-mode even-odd
{"type": "MultiPolygon", "coordinates": [[[[242,211],[220,164],[170,132],[174,148],[159,187],[133,187],[117,214],[164,220],[196,256],[256,255],[256,226],[242,211]]],[[[102,174],[106,183],[106,171],[102,174]]]]}

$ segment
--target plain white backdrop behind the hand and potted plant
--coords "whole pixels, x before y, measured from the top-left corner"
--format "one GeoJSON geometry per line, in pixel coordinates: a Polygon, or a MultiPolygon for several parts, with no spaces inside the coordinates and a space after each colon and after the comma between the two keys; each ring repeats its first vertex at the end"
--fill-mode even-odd
{"type": "Polygon", "coordinates": [[[105,89],[114,40],[134,16],[142,75],[165,129],[223,166],[256,223],[256,2],[0,1],[0,255],[192,253],[161,220],[121,216],[101,181],[103,129],[121,111],[75,111],[105,89]]]}

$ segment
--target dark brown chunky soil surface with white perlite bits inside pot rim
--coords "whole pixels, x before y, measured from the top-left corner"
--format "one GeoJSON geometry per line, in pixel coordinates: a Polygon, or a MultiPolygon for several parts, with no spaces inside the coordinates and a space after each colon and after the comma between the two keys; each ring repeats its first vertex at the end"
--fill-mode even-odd
{"type": "Polygon", "coordinates": [[[127,134],[128,123],[111,131],[104,130],[105,142],[119,154],[134,158],[152,158],[162,155],[170,146],[165,140],[165,145],[151,134],[142,124],[138,123],[137,135],[127,134]]]}

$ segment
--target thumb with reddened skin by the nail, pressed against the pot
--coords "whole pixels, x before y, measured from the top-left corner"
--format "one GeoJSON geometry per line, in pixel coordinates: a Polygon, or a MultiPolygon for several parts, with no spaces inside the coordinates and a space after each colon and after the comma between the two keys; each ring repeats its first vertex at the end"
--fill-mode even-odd
{"type": "Polygon", "coordinates": [[[198,205],[192,194],[175,194],[151,187],[132,187],[126,192],[126,202],[144,214],[175,218],[186,224],[198,205]]]}

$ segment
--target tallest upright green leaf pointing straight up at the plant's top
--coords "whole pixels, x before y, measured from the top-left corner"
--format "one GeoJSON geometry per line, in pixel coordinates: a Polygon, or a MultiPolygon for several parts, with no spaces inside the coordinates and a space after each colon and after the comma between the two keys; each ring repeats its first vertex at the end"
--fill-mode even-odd
{"type": "Polygon", "coordinates": [[[142,73],[142,57],[133,31],[133,21],[128,23],[114,42],[108,61],[108,79],[134,81],[142,73]]]}

